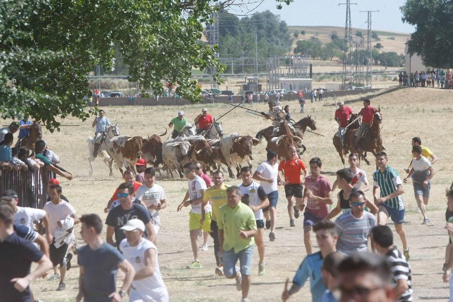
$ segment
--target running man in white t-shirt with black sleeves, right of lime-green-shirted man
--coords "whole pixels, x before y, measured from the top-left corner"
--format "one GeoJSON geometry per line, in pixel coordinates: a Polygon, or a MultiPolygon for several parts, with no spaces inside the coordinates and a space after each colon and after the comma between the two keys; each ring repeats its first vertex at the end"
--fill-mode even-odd
{"type": "Polygon", "coordinates": [[[250,167],[246,166],[241,168],[241,178],[242,184],[238,186],[241,191],[241,201],[252,209],[256,219],[257,234],[255,235],[255,243],[260,256],[258,262],[258,276],[262,276],[265,273],[263,209],[269,206],[269,199],[267,198],[263,186],[260,186],[253,181],[250,167]]]}

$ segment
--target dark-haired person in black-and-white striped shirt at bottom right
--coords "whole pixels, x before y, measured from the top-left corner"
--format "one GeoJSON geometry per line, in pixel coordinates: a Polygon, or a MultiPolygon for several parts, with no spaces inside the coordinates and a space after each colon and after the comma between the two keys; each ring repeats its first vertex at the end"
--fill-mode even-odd
{"type": "Polygon", "coordinates": [[[387,258],[392,264],[392,285],[398,302],[412,301],[412,275],[409,263],[393,245],[392,230],[387,225],[378,225],[371,230],[376,253],[387,258]]]}

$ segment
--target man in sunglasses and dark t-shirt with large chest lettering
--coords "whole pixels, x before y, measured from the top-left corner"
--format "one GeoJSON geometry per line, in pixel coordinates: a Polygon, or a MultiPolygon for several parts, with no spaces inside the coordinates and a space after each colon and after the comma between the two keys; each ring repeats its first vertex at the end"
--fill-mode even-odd
{"type": "Polygon", "coordinates": [[[107,224],[107,236],[106,240],[112,246],[115,246],[113,242],[113,234],[115,234],[116,246],[119,247],[121,240],[126,238],[121,226],[126,224],[130,219],[140,219],[145,225],[143,236],[153,243],[156,243],[156,232],[151,224],[151,215],[146,207],[141,204],[134,203],[132,201],[132,195],[134,194],[134,187],[130,183],[122,183],[118,187],[118,199],[120,205],[113,208],[107,214],[105,224],[107,224]]]}

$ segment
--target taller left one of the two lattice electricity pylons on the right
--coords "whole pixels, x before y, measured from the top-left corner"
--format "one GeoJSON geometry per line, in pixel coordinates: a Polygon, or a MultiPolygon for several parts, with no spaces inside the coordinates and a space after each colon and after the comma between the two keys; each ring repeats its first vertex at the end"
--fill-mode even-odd
{"type": "Polygon", "coordinates": [[[352,88],[354,83],[354,62],[352,57],[352,26],[351,26],[351,3],[346,0],[346,3],[339,3],[338,5],[346,5],[346,22],[344,25],[344,53],[343,53],[343,80],[341,82],[342,88],[352,88]],[[346,60],[349,59],[349,63],[346,60]]]}

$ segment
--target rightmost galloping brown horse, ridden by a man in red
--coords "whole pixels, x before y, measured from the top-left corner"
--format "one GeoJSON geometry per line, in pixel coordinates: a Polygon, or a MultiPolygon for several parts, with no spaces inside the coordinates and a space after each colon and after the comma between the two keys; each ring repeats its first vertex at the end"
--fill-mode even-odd
{"type": "MultiPolygon", "coordinates": [[[[365,136],[362,137],[357,145],[357,154],[359,155],[359,166],[360,166],[360,158],[363,158],[365,163],[369,165],[369,161],[363,156],[364,152],[371,152],[374,157],[376,153],[384,150],[384,146],[382,145],[382,137],[381,137],[381,124],[382,124],[382,114],[381,109],[378,109],[377,112],[373,115],[373,120],[371,121],[368,131],[366,132],[365,136]]],[[[355,132],[358,129],[354,129],[349,131],[346,138],[346,142],[349,143],[349,150],[350,152],[355,152],[354,142],[355,142],[355,132]]]]}

